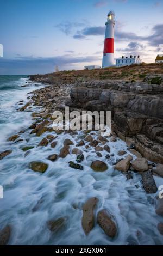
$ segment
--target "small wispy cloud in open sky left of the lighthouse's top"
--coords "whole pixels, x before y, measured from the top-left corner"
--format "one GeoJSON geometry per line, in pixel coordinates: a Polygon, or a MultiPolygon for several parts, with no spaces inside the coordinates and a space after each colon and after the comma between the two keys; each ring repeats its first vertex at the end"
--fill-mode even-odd
{"type": "Polygon", "coordinates": [[[73,32],[73,29],[77,27],[84,27],[85,22],[61,22],[57,25],[55,25],[56,28],[58,28],[60,31],[65,33],[66,35],[70,35],[73,32]]]}

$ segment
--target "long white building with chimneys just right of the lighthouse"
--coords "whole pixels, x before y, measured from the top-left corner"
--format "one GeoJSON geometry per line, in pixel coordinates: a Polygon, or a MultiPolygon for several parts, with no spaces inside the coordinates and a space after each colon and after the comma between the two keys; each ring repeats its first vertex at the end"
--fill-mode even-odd
{"type": "Polygon", "coordinates": [[[138,55],[136,56],[132,56],[130,55],[130,57],[124,57],[122,56],[122,58],[117,58],[116,59],[116,66],[129,66],[132,64],[140,64],[142,62],[142,60],[140,59],[140,56],[138,55]]]}

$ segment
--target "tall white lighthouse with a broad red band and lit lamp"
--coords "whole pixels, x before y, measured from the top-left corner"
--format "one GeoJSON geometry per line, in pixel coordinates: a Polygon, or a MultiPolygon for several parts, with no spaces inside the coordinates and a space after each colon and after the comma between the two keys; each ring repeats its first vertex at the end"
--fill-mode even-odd
{"type": "Polygon", "coordinates": [[[115,28],[115,14],[110,11],[105,23],[105,42],[103,52],[102,68],[114,65],[114,28],[115,28]]]}

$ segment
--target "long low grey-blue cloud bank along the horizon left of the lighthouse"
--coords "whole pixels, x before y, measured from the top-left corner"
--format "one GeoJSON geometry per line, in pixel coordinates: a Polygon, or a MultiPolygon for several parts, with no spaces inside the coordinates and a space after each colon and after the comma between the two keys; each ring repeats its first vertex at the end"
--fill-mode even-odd
{"type": "Polygon", "coordinates": [[[76,68],[80,63],[91,63],[101,60],[97,56],[73,56],[73,54],[65,54],[55,57],[33,57],[23,56],[15,59],[0,59],[0,74],[45,74],[52,72],[54,66],[58,65],[59,69],[76,68]]]}

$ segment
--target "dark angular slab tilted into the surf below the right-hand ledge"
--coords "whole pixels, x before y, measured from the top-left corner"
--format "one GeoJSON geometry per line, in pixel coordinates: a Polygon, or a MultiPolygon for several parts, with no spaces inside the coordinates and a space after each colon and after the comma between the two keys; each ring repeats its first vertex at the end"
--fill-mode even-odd
{"type": "Polygon", "coordinates": [[[147,194],[156,193],[158,191],[151,170],[142,173],[142,182],[143,188],[147,194]]]}

